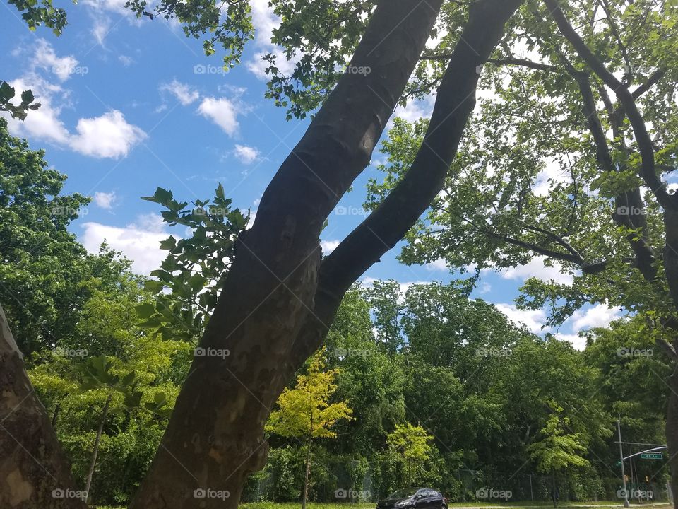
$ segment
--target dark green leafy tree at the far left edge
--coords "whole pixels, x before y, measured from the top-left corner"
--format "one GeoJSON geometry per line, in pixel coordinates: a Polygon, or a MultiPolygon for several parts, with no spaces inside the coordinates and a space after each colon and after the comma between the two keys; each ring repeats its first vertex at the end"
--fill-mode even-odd
{"type": "Polygon", "coordinates": [[[0,300],[26,355],[73,329],[93,258],[67,228],[89,199],[0,119],[0,300]]]}

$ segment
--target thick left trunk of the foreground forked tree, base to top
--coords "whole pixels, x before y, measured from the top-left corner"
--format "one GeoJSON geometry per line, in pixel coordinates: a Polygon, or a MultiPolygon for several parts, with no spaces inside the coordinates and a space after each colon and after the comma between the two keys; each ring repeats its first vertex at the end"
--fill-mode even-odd
{"type": "Polygon", "coordinates": [[[371,73],[340,79],[263,194],[201,340],[230,356],[194,359],[132,508],[234,508],[263,466],[281,366],[313,308],[323,221],[369,163],[441,3],[379,2],[351,63],[371,73]]]}

